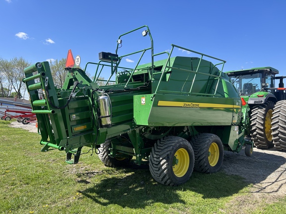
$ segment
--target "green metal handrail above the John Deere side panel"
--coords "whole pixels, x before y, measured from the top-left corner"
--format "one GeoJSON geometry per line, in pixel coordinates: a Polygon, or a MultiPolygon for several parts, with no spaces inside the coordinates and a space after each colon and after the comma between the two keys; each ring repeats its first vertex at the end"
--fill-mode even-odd
{"type": "MultiPolygon", "coordinates": [[[[166,70],[166,68],[175,68],[175,67],[167,66],[167,63],[168,63],[168,62],[170,63],[170,57],[171,57],[171,55],[172,55],[172,52],[173,52],[174,47],[179,48],[179,49],[182,49],[182,50],[185,50],[185,51],[188,51],[188,52],[192,52],[192,53],[201,55],[201,58],[200,58],[200,61],[199,61],[199,64],[198,64],[198,67],[197,67],[197,70],[196,70],[196,71],[186,70],[186,69],[182,69],[182,68],[176,68],[176,69],[178,69],[178,70],[186,70],[186,71],[194,72],[194,73],[195,73],[195,76],[194,76],[194,78],[193,78],[193,82],[192,82],[192,85],[191,85],[189,94],[192,93],[191,91],[192,91],[192,88],[193,88],[193,85],[194,85],[194,82],[195,82],[196,74],[197,74],[197,73],[200,73],[200,74],[203,74],[203,75],[207,75],[207,76],[215,76],[215,77],[218,77],[218,78],[221,77],[221,72],[222,72],[224,63],[226,62],[225,60],[216,58],[216,57],[211,56],[211,55],[207,55],[207,54],[203,54],[203,53],[200,53],[200,52],[196,52],[196,51],[193,51],[193,50],[190,50],[190,49],[186,49],[186,48],[183,48],[183,47],[174,45],[174,44],[171,44],[171,46],[172,46],[172,49],[171,49],[171,51],[170,51],[170,54],[169,54],[169,56],[168,56],[168,58],[167,58],[167,61],[166,61],[165,65],[164,65],[164,67],[163,67],[163,69],[162,69],[162,74],[161,74],[161,76],[160,76],[160,80],[159,80],[159,82],[158,82],[158,85],[157,85],[157,87],[156,87],[156,90],[155,90],[155,93],[154,93],[154,94],[156,94],[156,93],[158,92],[158,88],[159,88],[159,85],[160,85],[160,83],[161,83],[161,81],[162,81],[162,79],[163,79],[164,73],[168,72],[168,71],[166,70]],[[199,67],[200,67],[200,64],[201,64],[201,61],[202,61],[203,56],[206,56],[206,57],[209,57],[209,58],[213,58],[213,59],[215,59],[215,60],[222,61],[222,62],[217,63],[217,64],[214,65],[214,67],[216,67],[217,65],[222,64],[222,69],[219,70],[219,75],[218,75],[218,76],[217,76],[217,75],[213,75],[213,74],[207,74],[207,73],[198,72],[198,69],[199,69],[199,67]]],[[[213,67],[213,68],[214,68],[214,67],[213,67]]],[[[187,82],[187,81],[186,81],[186,82],[187,82]]],[[[214,96],[215,96],[215,94],[216,94],[216,90],[217,90],[217,87],[218,87],[218,82],[219,82],[219,81],[217,81],[214,94],[212,94],[212,95],[214,95],[214,96]]],[[[196,93],[196,94],[201,94],[201,93],[196,93]]],[[[202,93],[202,95],[206,95],[206,94],[203,94],[203,93],[202,93]]],[[[211,94],[210,94],[210,95],[211,95],[211,94]]]]}

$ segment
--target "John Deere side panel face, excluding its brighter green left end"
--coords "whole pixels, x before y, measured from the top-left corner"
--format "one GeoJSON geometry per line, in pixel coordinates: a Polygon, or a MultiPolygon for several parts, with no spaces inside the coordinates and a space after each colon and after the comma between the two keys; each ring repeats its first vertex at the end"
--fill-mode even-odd
{"type": "Polygon", "coordinates": [[[151,107],[150,126],[231,125],[233,99],[196,96],[156,95],[151,107]]]}

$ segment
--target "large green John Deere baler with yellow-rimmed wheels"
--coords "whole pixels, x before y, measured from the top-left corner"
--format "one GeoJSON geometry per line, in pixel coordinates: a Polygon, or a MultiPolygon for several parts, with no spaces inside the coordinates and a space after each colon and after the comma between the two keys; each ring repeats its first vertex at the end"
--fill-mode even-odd
{"type": "Polygon", "coordinates": [[[55,88],[48,62],[25,68],[23,82],[37,115],[43,152],[65,151],[66,161],[77,163],[86,146],[110,167],[131,160],[149,164],[154,180],[172,186],[188,181],[194,169],[218,171],[224,150],[245,148],[252,155],[253,143],[244,138],[248,125],[242,123],[242,101],[221,71],[224,60],[176,45],[170,53],[154,54],[147,26],[119,36],[115,53],[101,52],[99,59],[82,70],[68,57],[63,88],[55,88]],[[122,37],[140,29],[150,47],[119,55],[122,37]],[[172,57],[178,49],[199,57],[172,57]],[[148,63],[142,62],[146,53],[148,63]],[[124,66],[135,54],[140,56],[135,66],[124,66]],[[85,73],[89,66],[95,66],[93,80],[85,73]],[[102,72],[110,78],[100,79],[102,72]]]}

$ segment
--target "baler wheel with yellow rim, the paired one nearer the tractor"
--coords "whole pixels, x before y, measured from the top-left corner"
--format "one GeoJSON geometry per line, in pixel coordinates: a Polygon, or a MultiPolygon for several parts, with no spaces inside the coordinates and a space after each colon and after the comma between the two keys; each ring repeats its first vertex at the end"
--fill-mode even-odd
{"type": "Polygon", "coordinates": [[[192,138],[191,144],[195,152],[196,171],[214,173],[220,169],[223,161],[223,145],[218,136],[210,133],[197,134],[192,138]]]}

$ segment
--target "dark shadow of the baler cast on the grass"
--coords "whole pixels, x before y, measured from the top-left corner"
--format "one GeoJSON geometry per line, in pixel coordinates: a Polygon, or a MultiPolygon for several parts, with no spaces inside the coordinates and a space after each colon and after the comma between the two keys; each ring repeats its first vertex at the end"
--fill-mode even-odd
{"type": "Polygon", "coordinates": [[[180,186],[171,187],[157,183],[151,177],[148,167],[139,169],[112,168],[100,172],[88,172],[78,175],[85,183],[91,180],[92,187],[79,191],[94,202],[107,206],[117,204],[121,207],[144,208],[154,203],[186,204],[187,194],[196,199],[219,199],[238,193],[246,187],[243,178],[226,175],[223,172],[202,174],[193,172],[190,180],[180,186]],[[91,175],[94,174],[93,177],[91,175]],[[100,180],[100,181],[98,181],[100,180]]]}

